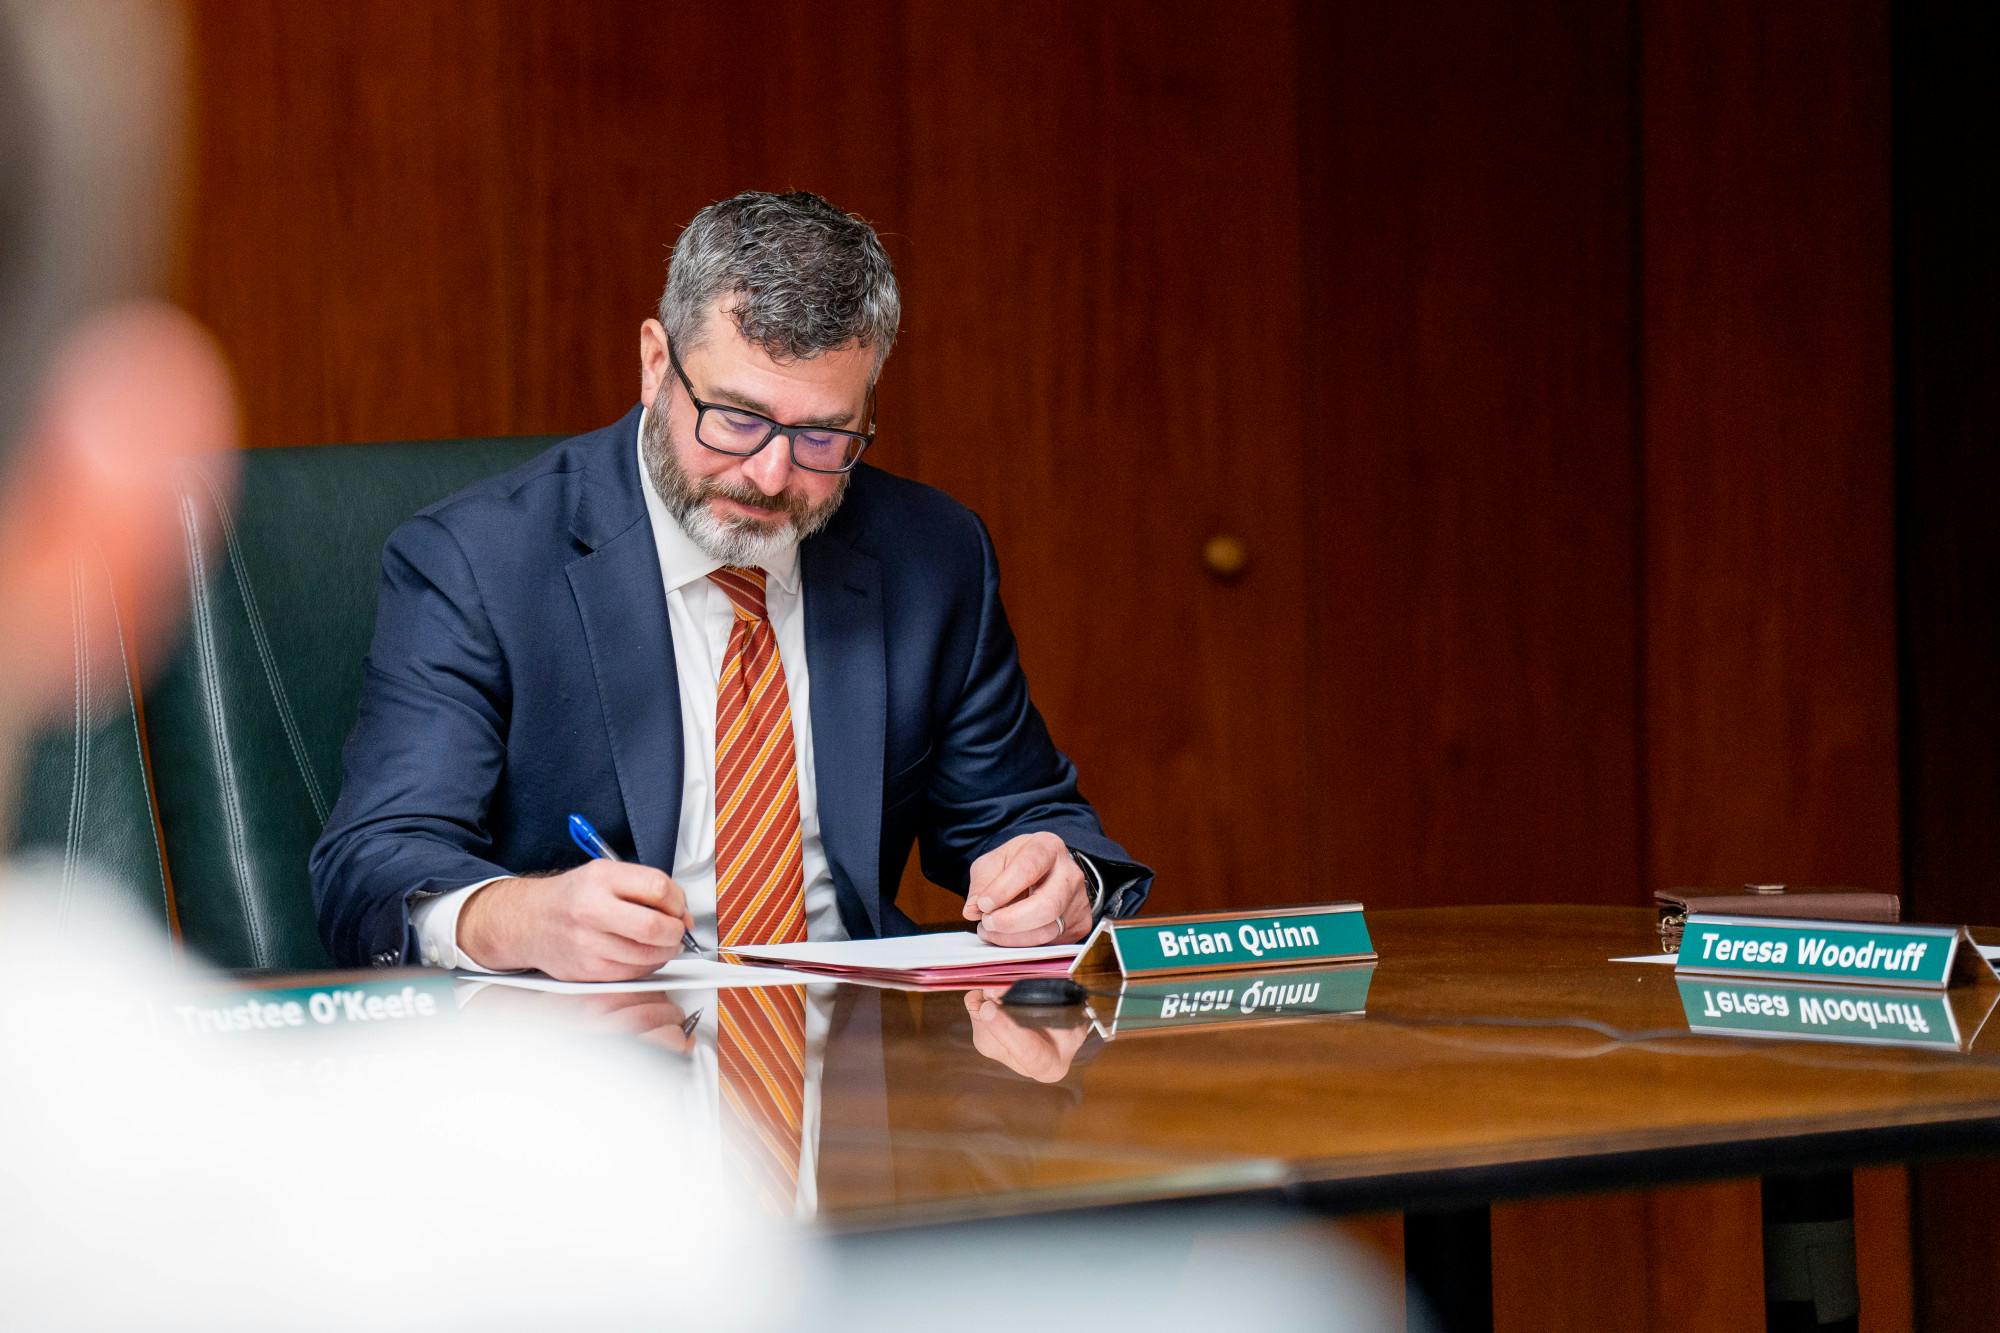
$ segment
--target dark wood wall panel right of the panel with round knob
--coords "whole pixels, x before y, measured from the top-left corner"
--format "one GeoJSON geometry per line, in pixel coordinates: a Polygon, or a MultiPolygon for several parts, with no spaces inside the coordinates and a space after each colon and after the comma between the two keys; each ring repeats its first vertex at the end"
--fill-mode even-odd
{"type": "Polygon", "coordinates": [[[1312,14],[1326,879],[1370,905],[1632,903],[1632,14],[1312,14]]]}

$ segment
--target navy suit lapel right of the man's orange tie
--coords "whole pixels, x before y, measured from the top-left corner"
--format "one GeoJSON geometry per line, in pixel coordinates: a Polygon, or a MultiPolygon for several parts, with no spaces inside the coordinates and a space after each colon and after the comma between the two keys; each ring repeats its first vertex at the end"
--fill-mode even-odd
{"type": "Polygon", "coordinates": [[[882,566],[832,532],[800,546],[820,843],[882,933],[882,566]]]}

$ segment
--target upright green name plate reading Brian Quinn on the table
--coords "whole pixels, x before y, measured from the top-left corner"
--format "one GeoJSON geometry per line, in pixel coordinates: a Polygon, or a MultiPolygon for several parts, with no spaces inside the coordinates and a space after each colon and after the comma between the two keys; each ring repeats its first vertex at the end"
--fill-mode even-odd
{"type": "Polygon", "coordinates": [[[1192,917],[1106,917],[1070,965],[1074,975],[1164,977],[1310,963],[1374,963],[1360,903],[1272,907],[1192,917]]]}

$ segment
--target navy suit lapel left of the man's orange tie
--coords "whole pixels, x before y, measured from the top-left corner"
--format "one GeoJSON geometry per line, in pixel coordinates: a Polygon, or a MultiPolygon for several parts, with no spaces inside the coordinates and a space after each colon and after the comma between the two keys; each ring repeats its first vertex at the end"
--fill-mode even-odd
{"type": "Polygon", "coordinates": [[[590,552],[566,572],[634,851],[646,865],[672,871],[682,787],[674,632],[638,488],[638,410],[620,424],[614,446],[596,454],[584,474],[572,534],[590,552]]]}

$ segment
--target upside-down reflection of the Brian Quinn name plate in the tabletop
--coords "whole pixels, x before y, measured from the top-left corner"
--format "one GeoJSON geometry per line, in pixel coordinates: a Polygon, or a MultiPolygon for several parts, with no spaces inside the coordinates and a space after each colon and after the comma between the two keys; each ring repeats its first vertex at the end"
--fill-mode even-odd
{"type": "Polygon", "coordinates": [[[1110,1041],[1118,1035],[1184,1031],[1190,1027],[1240,1027],[1246,1023],[1296,1023],[1324,1015],[1354,1015],[1368,1007],[1374,969],[1288,967],[1270,973],[1128,981],[1106,1005],[1090,999],[1090,1021],[1110,1041]]]}

